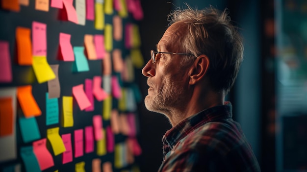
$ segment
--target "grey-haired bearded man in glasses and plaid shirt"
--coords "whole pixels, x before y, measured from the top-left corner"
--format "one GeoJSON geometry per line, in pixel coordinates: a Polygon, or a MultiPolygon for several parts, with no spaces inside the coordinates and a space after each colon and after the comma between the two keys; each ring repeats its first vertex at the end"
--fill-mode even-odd
{"type": "Polygon", "coordinates": [[[159,172],[260,172],[225,96],[243,59],[242,39],[227,11],[176,9],[142,70],[148,110],[164,114],[159,172]]]}

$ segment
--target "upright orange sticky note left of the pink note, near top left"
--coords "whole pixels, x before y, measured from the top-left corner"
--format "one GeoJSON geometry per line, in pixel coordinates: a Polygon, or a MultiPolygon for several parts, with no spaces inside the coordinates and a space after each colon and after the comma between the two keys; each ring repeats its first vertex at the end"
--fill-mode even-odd
{"type": "Polygon", "coordinates": [[[16,28],[17,62],[19,65],[32,65],[31,30],[26,27],[16,28]]]}

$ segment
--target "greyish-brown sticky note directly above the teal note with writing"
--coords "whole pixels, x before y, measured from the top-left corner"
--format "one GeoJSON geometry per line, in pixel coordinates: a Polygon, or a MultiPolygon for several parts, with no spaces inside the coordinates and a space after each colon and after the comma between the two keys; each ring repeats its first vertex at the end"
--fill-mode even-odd
{"type": "Polygon", "coordinates": [[[55,78],[48,81],[49,98],[59,98],[61,93],[58,75],[59,65],[50,65],[50,67],[55,75],[55,78]]]}

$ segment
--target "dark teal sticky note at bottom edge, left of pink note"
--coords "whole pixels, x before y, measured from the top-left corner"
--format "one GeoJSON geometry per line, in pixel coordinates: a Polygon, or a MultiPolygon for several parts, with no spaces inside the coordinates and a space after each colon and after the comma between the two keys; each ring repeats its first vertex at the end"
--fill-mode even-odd
{"type": "Polygon", "coordinates": [[[33,147],[21,147],[20,155],[24,161],[26,172],[41,172],[33,147]]]}

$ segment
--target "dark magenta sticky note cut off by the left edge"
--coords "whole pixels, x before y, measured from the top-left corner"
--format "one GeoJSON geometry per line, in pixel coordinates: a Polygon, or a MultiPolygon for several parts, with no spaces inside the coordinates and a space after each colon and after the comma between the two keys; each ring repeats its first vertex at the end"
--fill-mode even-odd
{"type": "Polygon", "coordinates": [[[12,66],[9,43],[0,41],[0,82],[12,82],[12,66]]]}

